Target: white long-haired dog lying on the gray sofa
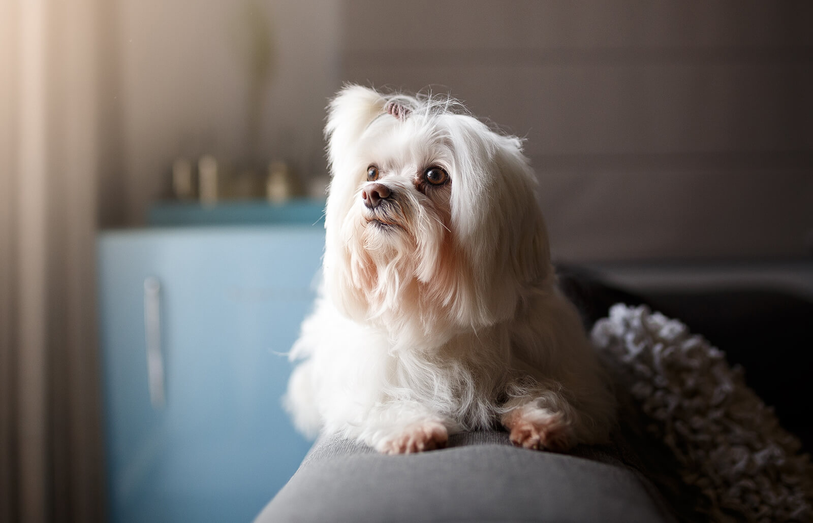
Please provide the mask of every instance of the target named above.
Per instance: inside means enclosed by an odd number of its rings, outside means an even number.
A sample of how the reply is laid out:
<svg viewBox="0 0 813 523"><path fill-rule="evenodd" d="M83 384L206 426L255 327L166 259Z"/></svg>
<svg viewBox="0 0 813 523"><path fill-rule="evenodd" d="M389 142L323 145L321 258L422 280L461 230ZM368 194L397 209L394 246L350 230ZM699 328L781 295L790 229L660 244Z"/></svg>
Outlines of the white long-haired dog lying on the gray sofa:
<svg viewBox="0 0 813 523"><path fill-rule="evenodd" d="M358 85L325 136L324 283L285 397L298 428L388 453L498 421L522 447L605 439L613 402L555 286L520 140L449 98Z"/></svg>

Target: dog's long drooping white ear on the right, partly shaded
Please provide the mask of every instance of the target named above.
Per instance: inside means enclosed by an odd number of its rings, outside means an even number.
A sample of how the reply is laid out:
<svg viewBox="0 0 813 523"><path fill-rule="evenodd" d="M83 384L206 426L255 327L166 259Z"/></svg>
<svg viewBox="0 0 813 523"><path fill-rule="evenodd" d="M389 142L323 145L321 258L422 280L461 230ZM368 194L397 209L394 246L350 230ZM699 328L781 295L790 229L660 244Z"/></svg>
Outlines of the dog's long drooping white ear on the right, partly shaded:
<svg viewBox="0 0 813 523"><path fill-rule="evenodd" d="M514 136L492 132L476 119L454 117L452 223L471 263L472 325L511 318L518 296L550 273L536 177ZM463 274L463 273L461 273ZM463 286L461 286L463 288Z"/></svg>

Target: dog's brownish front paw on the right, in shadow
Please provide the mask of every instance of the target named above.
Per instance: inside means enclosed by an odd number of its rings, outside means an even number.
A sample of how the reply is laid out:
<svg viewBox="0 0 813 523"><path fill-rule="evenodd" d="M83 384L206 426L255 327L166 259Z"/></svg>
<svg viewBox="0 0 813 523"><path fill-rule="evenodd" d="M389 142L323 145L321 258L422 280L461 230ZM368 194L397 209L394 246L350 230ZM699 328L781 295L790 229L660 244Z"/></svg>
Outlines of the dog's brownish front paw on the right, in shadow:
<svg viewBox="0 0 813 523"><path fill-rule="evenodd" d="M546 408L516 408L502 417L502 424L517 447L564 452L576 444L570 423Z"/></svg>

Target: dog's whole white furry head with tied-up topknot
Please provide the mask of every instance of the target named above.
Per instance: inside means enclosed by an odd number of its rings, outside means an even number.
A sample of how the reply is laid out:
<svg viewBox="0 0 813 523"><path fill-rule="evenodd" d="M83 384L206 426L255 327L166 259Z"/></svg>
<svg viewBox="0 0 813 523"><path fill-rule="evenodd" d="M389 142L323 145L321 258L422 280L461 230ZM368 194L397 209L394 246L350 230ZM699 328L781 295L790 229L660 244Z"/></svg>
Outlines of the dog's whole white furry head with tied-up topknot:
<svg viewBox="0 0 813 523"><path fill-rule="evenodd" d="M513 317L550 278L520 140L454 103L343 89L329 109L328 297L434 342Z"/></svg>

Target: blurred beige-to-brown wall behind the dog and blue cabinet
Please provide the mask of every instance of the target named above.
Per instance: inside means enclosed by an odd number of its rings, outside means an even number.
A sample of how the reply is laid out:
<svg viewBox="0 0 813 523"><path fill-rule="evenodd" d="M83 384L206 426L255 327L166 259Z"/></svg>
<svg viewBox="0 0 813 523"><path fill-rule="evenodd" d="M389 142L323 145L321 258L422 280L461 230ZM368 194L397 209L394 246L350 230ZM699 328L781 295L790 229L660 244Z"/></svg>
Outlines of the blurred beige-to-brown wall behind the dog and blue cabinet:
<svg viewBox="0 0 813 523"><path fill-rule="evenodd" d="M267 156L324 170L325 97L341 81L435 85L527 138L559 258L813 250L808 2L260 4L278 57L262 112ZM111 8L102 223L140 223L179 152L246 155L247 80L233 37L245 5ZM125 205L105 196L121 194Z"/></svg>

